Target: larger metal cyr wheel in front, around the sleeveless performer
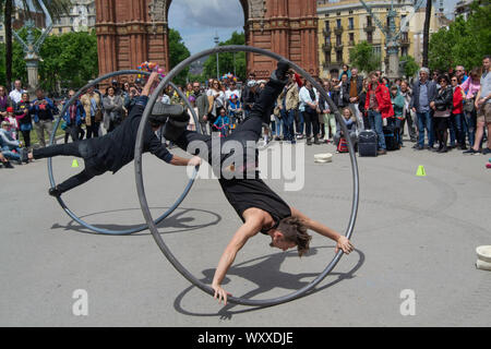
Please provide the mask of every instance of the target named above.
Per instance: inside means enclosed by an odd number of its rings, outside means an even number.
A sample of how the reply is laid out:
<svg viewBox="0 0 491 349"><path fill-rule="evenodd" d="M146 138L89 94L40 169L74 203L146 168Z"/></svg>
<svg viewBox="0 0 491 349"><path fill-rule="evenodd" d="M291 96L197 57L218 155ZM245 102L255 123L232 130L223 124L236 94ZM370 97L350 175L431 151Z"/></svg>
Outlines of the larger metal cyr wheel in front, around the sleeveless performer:
<svg viewBox="0 0 491 349"><path fill-rule="evenodd" d="M156 96L158 93L164 88L164 86L170 82L173 76L176 76L179 72L182 71L185 67L191 64L192 62L199 60L200 58L207 57L209 55L215 53L221 53L221 52L251 52L251 53L259 53L264 55L270 58L273 58L275 60L285 60L287 61L290 67L300 75L302 75L304 79L310 81L312 85L324 96L324 98L327 100L327 104L330 105L330 109L334 110L335 116L342 127L342 130L345 134L348 134L348 130L346 128L346 124L343 122L342 116L339 111L337 110L336 106L334 105L333 100L330 98L330 96L325 93L324 88L310 75L308 74L303 69L295 64L294 62L288 61L286 58L273 53L271 51L251 47L251 46L219 46L212 49L204 50L202 52L199 52L196 55L193 55L189 57L188 59L180 62L178 65L176 65L168 74L167 76L160 82L158 87L156 88L157 93L154 94L145 108L145 111L143 112L142 117L142 124L146 122L148 119L148 116L151 113L151 110L153 109L155 103L156 103ZM358 178L358 166L357 166L357 159L355 155L355 148L354 144L350 140L350 137L347 137L348 142L348 149L351 160L351 173L352 173L352 204L351 204L351 214L348 221L348 227L346 229L345 236L349 239L352 234L352 230L355 228L355 221L357 217L358 212L358 202L359 202L359 178ZM143 151L143 128L142 125L139 129L139 133L136 135L136 146L135 146L135 154L134 154L134 167L135 167L135 180L136 180L136 190L139 193L139 200L140 205L142 207L143 215L145 217L145 220L148 225L148 228L152 232L152 236L154 237L155 241L157 242L158 246L160 248L164 255L167 257L167 260L172 264L172 266L180 273L182 276L184 276L190 282L192 282L194 286L199 287L206 293L214 296L215 291L201 280L199 280L196 277L194 277L188 269L176 258L176 256L171 253L169 248L164 242L161 236L158 233L157 227L154 224L154 220L152 218L152 214L148 208L148 204L146 201L145 195L145 189L143 185L143 174L142 174L142 151ZM288 302L291 300L295 300L299 297L302 297L307 292L311 291L319 282L321 282L327 274L331 273L331 270L336 266L336 264L339 262L340 257L343 255L343 251L339 250L336 255L333 257L333 260L327 264L325 269L318 275L318 277L312 280L309 285L306 287L286 294L284 297L273 298L273 299L264 299L264 300L250 300L250 299L243 299L243 298L236 298L236 297L229 297L228 300L231 303L241 304L241 305L252 305L252 306L271 306L280 304L284 302Z"/></svg>

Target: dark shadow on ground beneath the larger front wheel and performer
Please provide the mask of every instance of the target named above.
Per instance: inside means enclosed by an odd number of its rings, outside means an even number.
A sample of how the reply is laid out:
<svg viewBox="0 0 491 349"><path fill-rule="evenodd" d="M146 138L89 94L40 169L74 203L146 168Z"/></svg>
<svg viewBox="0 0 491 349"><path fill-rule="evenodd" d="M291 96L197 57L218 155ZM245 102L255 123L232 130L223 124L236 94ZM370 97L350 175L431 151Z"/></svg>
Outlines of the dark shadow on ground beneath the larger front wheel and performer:
<svg viewBox="0 0 491 349"><path fill-rule="evenodd" d="M309 251L309 254L304 257L309 257L311 255L314 255L318 253L321 249L334 249L334 246L320 246L320 248L311 248ZM315 292L320 292L322 290L325 290L345 279L350 279L355 277L355 273L363 265L364 263L364 254L359 250L354 250L354 252L350 254L350 258L354 257L354 254L358 254L359 258L357 264L347 273L337 273L335 272L336 268L332 273L330 273L326 276L326 279L330 276L337 276L336 279L330 281L328 284L322 285L324 282L321 281L313 290L309 291L304 296L309 296ZM280 266L283 262L285 262L286 258L295 257L298 258L297 251L290 251L290 252L279 252L275 254L270 254L265 256L261 256L251 261L247 261L240 264L237 264L228 270L227 275L235 275L239 276L241 278L244 278L253 284L256 285L256 288L244 293L240 294L240 298L242 299L252 299L255 296L266 293L273 289L283 289L279 290L276 297L285 296L287 292L284 290L291 290L291 292L297 291L307 285L310 284L310 279L315 278L319 273L300 273L300 274L289 274L286 272L280 270ZM261 261L262 260L262 261ZM261 261L256 264L250 265L251 263L254 263L256 261ZM215 274L215 269L205 269L202 272L204 275L204 278L200 279L202 282L206 285L211 285L213 280L213 276ZM310 278L310 279L307 279ZM303 280L306 279L306 280ZM227 290L226 286L230 282L230 279L226 277L224 281L221 282L224 288ZM321 285L321 286L320 286ZM197 312L191 312L183 309L182 303L185 294L190 292L194 286L188 287L185 290L183 290L181 293L178 294L173 302L173 308L176 311L184 314L184 315L192 315L192 316L219 316L223 320L230 320L232 315L235 314L241 314L247 313L251 311L260 310L261 306L251 306L244 310L237 310L231 311L233 308L238 306L237 304L228 303L227 305L223 306L217 313L197 313ZM239 297L239 294L232 294L235 297ZM302 296L302 297L304 297ZM206 301L209 302L218 302L217 300L214 300L208 294L203 293L203 297ZM270 296L270 298L272 298ZM261 299L261 298L259 298ZM294 300L295 301L295 300ZM217 304L218 305L218 304Z"/></svg>

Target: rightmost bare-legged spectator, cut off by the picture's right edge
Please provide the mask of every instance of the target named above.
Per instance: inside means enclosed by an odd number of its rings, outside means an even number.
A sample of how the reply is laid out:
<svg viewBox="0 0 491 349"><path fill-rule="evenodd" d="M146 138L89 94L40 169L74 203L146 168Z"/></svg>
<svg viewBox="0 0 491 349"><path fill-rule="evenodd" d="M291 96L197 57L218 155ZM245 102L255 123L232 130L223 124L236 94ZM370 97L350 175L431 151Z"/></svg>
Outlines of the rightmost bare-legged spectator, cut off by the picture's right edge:
<svg viewBox="0 0 491 349"><path fill-rule="evenodd" d="M474 146L464 152L466 154L479 153L479 146L481 144L484 127L488 127L488 147L482 149L482 154L491 153L491 57L486 56L482 60L484 71L481 76L481 88L476 96L475 107L477 109L477 131Z"/></svg>

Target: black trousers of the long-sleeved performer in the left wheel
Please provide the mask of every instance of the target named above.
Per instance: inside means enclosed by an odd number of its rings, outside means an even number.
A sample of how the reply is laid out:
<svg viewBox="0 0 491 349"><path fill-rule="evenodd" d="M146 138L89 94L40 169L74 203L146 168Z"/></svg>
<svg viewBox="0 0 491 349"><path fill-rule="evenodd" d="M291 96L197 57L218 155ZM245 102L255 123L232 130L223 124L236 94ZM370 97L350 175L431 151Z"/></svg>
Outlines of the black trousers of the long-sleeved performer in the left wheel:
<svg viewBox="0 0 491 349"><path fill-rule="evenodd" d="M64 182L57 185L60 193L64 193L75 186L79 186L87 181L89 181L95 176L103 174L105 170L100 169L100 166L94 164L95 149L85 142L74 142L67 144L58 144L52 146L47 146L44 148L38 148L33 151L33 157L35 159L41 159L46 157L55 156L75 156L83 158L85 163L85 168L82 172L70 177Z"/></svg>

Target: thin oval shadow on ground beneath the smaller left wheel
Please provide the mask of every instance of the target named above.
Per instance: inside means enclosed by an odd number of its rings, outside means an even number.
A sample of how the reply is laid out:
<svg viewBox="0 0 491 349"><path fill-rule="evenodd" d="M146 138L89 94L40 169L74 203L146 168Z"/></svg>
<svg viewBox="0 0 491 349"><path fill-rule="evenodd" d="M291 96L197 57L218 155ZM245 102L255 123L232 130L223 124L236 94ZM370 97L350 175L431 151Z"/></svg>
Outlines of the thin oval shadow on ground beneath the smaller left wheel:
<svg viewBox="0 0 491 349"><path fill-rule="evenodd" d="M169 207L152 207L152 209L159 209L159 215L164 214ZM87 217L95 216L95 215L104 215L104 214L112 214L118 213L123 215L124 212L132 212L132 210L141 210L140 208L123 208L123 209L113 209L113 210L104 210L98 212L94 214L88 214L81 216L80 218L85 220ZM202 213L206 214L206 216L211 216L208 219L208 222L197 224L195 222L194 216L196 216L194 213ZM157 215L154 216L154 219L157 219ZM143 218L142 218L143 220ZM221 216L216 214L212 210L206 209L197 209L197 208L185 208L185 207L178 207L176 210L167 218L165 218L163 221L160 221L157 225L157 228L161 233L173 233L173 232L183 232L183 231L191 231L191 230L199 230L203 229L209 226L215 226L218 222L220 222ZM140 222L137 225L129 225L129 226L122 226L122 225L111 225L111 224L92 224L92 226L98 228L98 229L106 229L106 230L130 230L135 229L140 226L142 226L143 222ZM80 225L75 220L70 220L65 226L60 224L53 224L51 226L51 229L64 229L64 230L74 230L77 232L84 232L84 233L94 233L91 229ZM144 229L145 231L147 229ZM136 232L134 236L147 236L148 232Z"/></svg>

